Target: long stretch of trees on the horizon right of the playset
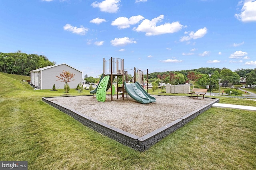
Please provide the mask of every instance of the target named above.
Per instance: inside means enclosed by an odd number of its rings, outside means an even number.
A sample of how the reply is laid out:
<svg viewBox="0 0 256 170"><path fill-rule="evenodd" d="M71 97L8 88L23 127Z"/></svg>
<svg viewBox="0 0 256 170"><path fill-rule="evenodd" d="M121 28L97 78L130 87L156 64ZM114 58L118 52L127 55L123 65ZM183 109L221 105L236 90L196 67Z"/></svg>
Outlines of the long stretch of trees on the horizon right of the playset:
<svg viewBox="0 0 256 170"><path fill-rule="evenodd" d="M145 78L145 77L144 77ZM246 85L256 84L256 68L236 69L234 72L228 68L198 68L193 70L153 72L148 76L148 82L176 84L196 84L199 86L212 85L218 88L219 82L224 87L240 84L246 80Z"/></svg>

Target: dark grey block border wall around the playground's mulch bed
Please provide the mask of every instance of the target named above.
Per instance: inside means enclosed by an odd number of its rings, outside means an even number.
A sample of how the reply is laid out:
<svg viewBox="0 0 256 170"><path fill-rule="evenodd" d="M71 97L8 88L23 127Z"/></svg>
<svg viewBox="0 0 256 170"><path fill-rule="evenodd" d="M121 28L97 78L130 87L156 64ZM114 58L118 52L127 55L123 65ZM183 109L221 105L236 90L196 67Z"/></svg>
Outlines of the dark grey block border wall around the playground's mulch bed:
<svg viewBox="0 0 256 170"><path fill-rule="evenodd" d="M61 97L71 97L71 96L61 96ZM75 97L75 96L74 96ZM133 135L131 133L128 133L126 131L123 131L121 129L118 129L116 127L112 127L110 125L107 125L105 123L102 123L100 121L94 120L82 113L79 113L78 111L74 109L69 109L68 107L62 106L60 104L57 104L55 102L52 102L48 100L48 98L52 97L43 97L42 101L46 102L50 106L55 107L56 109L59 109L60 111L63 111L64 113L70 115L83 125L86 125L87 127L90 127L94 129L95 131L102 133L103 135L106 135L128 147L131 147L138 151L145 151L148 148L150 148L152 145L156 144L158 141L161 141L164 137L168 136L172 132L176 131L180 127L184 126L186 123L192 121L192 119L196 118L198 115L203 113L204 111L210 109L213 104L218 103L219 99L215 99L210 104L207 104L203 107L200 107L199 109L196 109L192 111L191 113L188 113L187 115L180 117L180 119L177 119L173 121L172 123L169 123L165 125L164 127L160 127L159 129L156 129L155 131L148 133L147 135L144 135L142 137L138 137L136 135ZM207 97L205 97L207 98Z"/></svg>

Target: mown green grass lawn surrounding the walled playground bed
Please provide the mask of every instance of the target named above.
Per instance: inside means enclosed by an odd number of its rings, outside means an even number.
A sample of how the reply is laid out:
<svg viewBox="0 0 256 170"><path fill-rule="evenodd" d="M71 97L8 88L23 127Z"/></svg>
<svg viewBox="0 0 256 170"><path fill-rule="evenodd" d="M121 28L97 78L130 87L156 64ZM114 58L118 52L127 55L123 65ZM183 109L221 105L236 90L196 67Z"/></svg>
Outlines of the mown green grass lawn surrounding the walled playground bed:
<svg viewBox="0 0 256 170"><path fill-rule="evenodd" d="M36 170L256 169L255 111L211 108L139 152L42 102L64 90L33 90L21 80L0 73L0 160L26 160L28 169ZM89 91L72 89L69 94ZM256 106L252 100L218 98L220 103Z"/></svg>

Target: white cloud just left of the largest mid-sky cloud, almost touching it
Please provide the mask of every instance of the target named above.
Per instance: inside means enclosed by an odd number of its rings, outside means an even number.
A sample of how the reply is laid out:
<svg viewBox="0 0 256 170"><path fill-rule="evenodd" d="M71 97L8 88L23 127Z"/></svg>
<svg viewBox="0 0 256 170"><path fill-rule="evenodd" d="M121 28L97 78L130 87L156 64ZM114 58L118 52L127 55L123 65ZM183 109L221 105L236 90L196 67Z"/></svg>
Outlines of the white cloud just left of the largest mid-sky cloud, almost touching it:
<svg viewBox="0 0 256 170"><path fill-rule="evenodd" d="M134 25L143 19L143 16L132 16L130 18L119 17L116 18L116 20L112 21L111 25L116 25L119 29L124 29L129 28L130 25Z"/></svg>

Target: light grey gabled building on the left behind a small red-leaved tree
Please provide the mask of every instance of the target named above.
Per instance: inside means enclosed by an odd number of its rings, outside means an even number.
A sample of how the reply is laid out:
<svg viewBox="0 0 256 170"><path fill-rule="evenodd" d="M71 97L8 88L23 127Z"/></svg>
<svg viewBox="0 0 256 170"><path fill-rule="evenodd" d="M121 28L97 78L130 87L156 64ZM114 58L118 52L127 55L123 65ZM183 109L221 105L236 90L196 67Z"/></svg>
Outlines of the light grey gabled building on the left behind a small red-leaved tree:
<svg viewBox="0 0 256 170"><path fill-rule="evenodd" d="M70 88L76 88L77 84L82 83L81 71L68 64L58 64L30 71L30 84L33 84L33 87L38 87L38 89L52 89L54 84L56 89L63 89L65 83L61 82L61 80L58 80L56 77L60 76L60 73L62 73L63 70L75 74L75 80L68 82Z"/></svg>

